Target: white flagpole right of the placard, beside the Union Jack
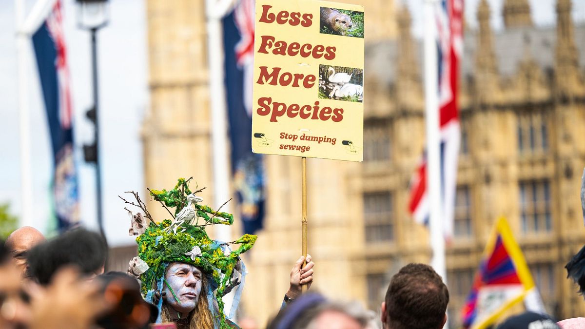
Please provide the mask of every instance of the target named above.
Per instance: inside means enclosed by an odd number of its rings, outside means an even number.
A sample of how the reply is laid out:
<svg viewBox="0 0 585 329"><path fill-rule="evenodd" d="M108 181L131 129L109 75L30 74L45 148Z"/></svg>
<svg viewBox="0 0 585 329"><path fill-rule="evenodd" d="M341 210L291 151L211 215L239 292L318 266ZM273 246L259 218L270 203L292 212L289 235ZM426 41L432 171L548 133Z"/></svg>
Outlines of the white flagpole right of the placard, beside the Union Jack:
<svg viewBox="0 0 585 329"><path fill-rule="evenodd" d="M431 265L446 282L445 237L443 237L441 205L441 173L439 159L439 100L438 100L438 63L436 46L436 25L434 6L436 0L424 1L425 17L425 112L426 112L426 150L427 177L429 189L431 248L433 256Z"/></svg>

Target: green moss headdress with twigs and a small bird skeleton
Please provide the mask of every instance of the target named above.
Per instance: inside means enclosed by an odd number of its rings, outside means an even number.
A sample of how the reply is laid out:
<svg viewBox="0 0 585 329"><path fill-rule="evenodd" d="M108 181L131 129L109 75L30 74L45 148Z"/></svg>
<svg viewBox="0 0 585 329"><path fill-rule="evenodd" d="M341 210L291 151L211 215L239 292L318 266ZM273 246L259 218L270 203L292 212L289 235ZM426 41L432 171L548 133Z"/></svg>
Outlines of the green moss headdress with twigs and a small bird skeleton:
<svg viewBox="0 0 585 329"><path fill-rule="evenodd" d="M166 284L164 273L167 266L173 262L197 266L208 277L209 309L216 317L219 327L225 328L228 325L222 311L221 297L233 287L238 286L236 292L238 296L232 304L232 310L235 310L245 275L245 267L239 256L252 248L256 242L256 235L245 234L232 242L215 241L209 238L205 232L206 227L215 224L231 225L233 215L198 204L202 199L195 196L195 193L201 190L192 193L188 186L190 180L178 179L177 185L170 191L149 190L150 196L163 204L173 220L163 220L156 224L146 210L146 205L135 192L132 194L138 204L124 200L126 203L140 207L144 211L144 217L150 220L150 223L146 225L142 214L133 215L129 211L132 221L129 233L139 236L136 238L138 257L130 261L128 273L142 280L141 289L144 299L159 306L160 310L162 305L160 293L163 285ZM169 208L174 208L174 214ZM232 251L229 245L234 244L240 246ZM219 308L217 314L214 301Z"/></svg>

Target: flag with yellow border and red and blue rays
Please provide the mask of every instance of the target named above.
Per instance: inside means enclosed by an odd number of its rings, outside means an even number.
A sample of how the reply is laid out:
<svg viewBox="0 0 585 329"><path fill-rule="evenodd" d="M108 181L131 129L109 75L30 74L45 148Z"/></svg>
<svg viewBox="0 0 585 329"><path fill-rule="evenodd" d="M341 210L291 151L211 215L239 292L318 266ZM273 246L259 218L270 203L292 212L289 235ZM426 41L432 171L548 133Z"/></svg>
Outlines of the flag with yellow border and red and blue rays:
<svg viewBox="0 0 585 329"><path fill-rule="evenodd" d="M545 313L524 255L508 222L500 218L488 240L472 291L463 307L463 326L487 328L522 301L526 310Z"/></svg>

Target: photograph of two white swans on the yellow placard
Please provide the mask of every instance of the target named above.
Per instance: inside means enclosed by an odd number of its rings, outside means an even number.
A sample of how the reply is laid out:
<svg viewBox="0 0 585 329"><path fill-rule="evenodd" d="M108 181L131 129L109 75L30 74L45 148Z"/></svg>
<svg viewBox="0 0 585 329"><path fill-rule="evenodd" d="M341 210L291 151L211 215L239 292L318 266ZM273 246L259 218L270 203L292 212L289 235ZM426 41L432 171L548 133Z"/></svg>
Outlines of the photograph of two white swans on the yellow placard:
<svg viewBox="0 0 585 329"><path fill-rule="evenodd" d="M363 102L361 68L319 65L318 97L325 100Z"/></svg>

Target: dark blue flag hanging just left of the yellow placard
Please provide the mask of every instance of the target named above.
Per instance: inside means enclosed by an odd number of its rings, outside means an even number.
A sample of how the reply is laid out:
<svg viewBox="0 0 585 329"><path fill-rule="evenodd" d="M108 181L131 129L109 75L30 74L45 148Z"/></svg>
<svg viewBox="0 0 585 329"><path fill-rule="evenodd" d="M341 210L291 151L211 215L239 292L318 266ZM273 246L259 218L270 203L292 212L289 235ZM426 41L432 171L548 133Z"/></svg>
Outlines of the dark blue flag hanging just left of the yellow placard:
<svg viewBox="0 0 585 329"><path fill-rule="evenodd" d="M254 0L239 0L222 19L233 184L246 234L261 229L264 220L263 160L250 144L255 11Z"/></svg>

